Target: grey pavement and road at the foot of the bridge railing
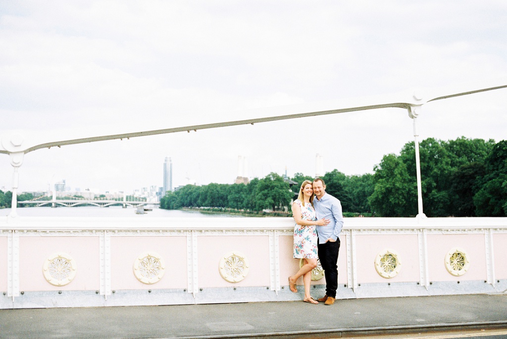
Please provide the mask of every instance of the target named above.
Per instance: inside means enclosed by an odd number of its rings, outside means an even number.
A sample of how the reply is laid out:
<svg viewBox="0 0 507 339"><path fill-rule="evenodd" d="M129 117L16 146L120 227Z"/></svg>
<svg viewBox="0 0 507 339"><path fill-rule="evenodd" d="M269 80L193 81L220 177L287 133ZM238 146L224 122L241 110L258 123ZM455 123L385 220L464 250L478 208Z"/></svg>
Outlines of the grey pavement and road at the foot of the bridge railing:
<svg viewBox="0 0 507 339"><path fill-rule="evenodd" d="M507 294L0 310L0 338L351 337L507 328Z"/></svg>

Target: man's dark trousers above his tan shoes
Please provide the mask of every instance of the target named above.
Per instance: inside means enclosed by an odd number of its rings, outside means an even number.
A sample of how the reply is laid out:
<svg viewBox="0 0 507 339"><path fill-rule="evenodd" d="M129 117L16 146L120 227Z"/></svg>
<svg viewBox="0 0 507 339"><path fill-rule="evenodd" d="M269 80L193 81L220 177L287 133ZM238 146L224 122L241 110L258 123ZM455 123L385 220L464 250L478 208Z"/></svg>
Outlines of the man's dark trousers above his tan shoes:
<svg viewBox="0 0 507 339"><path fill-rule="evenodd" d="M338 251L340 250L340 239L335 242L328 241L323 244L318 243L318 259L320 266L324 270L325 277L325 295L336 299L336 289L338 288Z"/></svg>

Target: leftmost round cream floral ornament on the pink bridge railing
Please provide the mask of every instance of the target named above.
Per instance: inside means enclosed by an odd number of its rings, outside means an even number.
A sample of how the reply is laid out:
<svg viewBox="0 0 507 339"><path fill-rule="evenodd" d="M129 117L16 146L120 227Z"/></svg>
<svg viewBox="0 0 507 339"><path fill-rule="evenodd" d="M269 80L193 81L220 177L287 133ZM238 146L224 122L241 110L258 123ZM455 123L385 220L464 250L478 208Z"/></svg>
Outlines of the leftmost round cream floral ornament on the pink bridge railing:
<svg viewBox="0 0 507 339"><path fill-rule="evenodd" d="M54 286L64 286L76 276L76 261L67 253L54 253L44 261L44 278Z"/></svg>

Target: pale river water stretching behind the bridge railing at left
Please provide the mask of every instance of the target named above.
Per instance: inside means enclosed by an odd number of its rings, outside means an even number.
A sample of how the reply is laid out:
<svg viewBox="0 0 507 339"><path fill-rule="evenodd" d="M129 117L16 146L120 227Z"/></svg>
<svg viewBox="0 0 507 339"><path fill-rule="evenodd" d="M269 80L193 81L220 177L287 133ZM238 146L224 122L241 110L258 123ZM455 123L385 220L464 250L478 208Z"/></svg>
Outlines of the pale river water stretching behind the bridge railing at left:
<svg viewBox="0 0 507 339"><path fill-rule="evenodd" d="M237 217L228 214L204 214L199 211L168 210L154 207L144 214L136 214L136 207L122 208L122 206L97 207L18 207L16 211L20 217L128 217L128 218L213 218ZM11 213L11 208L1 208L0 217Z"/></svg>

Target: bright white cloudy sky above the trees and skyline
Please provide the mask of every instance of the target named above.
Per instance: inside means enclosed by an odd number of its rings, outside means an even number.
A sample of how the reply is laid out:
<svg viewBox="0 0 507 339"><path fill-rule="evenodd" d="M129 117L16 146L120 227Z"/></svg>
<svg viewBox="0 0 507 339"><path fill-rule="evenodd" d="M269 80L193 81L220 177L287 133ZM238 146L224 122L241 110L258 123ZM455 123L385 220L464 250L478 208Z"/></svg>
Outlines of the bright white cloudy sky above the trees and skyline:
<svg viewBox="0 0 507 339"><path fill-rule="evenodd" d="M507 76L507 2L10 1L0 3L0 137L97 125L125 132L247 118L252 108ZM507 138L507 90L423 106L421 139ZM337 107L338 108L338 107ZM233 112L233 113L231 113ZM52 132L56 131L56 132ZM318 142L315 142L315 137ZM399 108L62 146L28 153L19 191L233 183L372 173L413 140ZM0 189L13 169L0 154Z"/></svg>

